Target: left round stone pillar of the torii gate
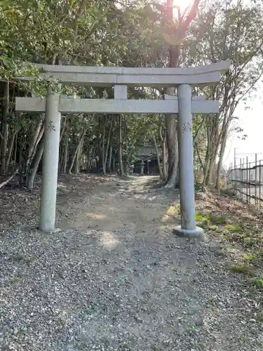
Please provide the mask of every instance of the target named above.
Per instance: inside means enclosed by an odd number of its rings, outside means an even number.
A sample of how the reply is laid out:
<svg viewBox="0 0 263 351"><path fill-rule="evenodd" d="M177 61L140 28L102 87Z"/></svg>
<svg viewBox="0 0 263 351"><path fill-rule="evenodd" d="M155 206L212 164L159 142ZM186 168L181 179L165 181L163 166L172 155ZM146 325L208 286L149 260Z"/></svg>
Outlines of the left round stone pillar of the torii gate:
<svg viewBox="0 0 263 351"><path fill-rule="evenodd" d="M45 134L42 166L42 186L39 230L55 230L55 208L58 186L58 159L60 152L60 95L48 90L45 112Z"/></svg>

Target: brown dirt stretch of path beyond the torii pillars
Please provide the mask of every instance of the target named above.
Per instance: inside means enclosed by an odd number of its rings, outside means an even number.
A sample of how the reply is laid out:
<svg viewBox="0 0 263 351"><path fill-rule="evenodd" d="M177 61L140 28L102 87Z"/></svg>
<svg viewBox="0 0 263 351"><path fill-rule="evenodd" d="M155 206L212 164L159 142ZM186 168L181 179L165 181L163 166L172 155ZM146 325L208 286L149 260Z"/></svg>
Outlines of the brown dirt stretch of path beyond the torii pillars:
<svg viewBox="0 0 263 351"><path fill-rule="evenodd" d="M95 194L74 204L74 208L63 204L67 218L59 226L79 230L121 230L127 227L130 230L162 230L167 223L175 223L172 216L166 216L175 197L168 192L163 197L162 192L153 191L154 183L154 177L130 177L129 180L101 185Z"/></svg>

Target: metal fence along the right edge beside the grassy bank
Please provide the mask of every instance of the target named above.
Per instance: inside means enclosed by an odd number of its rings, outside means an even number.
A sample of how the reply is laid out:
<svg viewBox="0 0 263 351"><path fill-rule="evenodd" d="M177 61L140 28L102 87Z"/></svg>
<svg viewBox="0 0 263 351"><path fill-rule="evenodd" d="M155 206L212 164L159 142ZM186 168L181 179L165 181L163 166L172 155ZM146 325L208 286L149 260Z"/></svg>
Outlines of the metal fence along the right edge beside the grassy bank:
<svg viewBox="0 0 263 351"><path fill-rule="evenodd" d="M263 210L263 159L255 161L249 157L238 159L231 164L226 175L225 187L247 204ZM260 155L261 156L261 155ZM261 156L262 157L262 156Z"/></svg>

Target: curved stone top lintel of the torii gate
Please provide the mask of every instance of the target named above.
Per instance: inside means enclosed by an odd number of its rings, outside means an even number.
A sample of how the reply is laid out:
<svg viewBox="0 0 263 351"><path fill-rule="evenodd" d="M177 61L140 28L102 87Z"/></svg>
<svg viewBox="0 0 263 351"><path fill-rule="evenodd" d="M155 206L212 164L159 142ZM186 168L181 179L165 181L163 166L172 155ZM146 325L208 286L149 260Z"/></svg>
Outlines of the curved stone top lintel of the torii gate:
<svg viewBox="0 0 263 351"><path fill-rule="evenodd" d="M43 69L41 79L50 77L64 84L83 84L85 86L177 86L190 84L192 86L210 86L220 81L220 74L227 72L230 61L217 62L213 65L181 68L140 68L140 67L93 67L93 66L63 66L35 65ZM34 80L34 77L18 77L23 80Z"/></svg>

